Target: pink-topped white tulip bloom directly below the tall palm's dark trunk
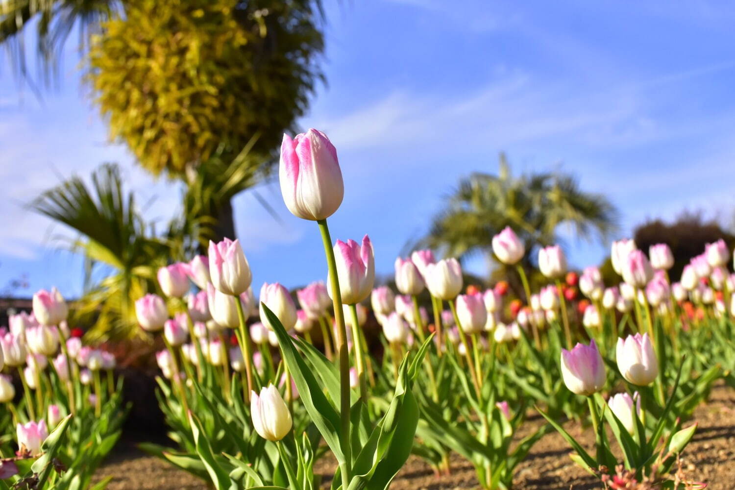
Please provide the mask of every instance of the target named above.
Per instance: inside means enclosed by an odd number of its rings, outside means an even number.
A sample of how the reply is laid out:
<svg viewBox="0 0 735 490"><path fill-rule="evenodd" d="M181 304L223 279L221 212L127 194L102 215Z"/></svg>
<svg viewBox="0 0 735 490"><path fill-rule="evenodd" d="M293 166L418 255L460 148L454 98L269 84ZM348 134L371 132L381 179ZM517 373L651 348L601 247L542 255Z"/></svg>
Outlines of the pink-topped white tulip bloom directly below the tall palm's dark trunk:
<svg viewBox="0 0 735 490"><path fill-rule="evenodd" d="M209 276L215 289L226 295L239 296L248 290L253 275L239 240L209 242Z"/></svg>

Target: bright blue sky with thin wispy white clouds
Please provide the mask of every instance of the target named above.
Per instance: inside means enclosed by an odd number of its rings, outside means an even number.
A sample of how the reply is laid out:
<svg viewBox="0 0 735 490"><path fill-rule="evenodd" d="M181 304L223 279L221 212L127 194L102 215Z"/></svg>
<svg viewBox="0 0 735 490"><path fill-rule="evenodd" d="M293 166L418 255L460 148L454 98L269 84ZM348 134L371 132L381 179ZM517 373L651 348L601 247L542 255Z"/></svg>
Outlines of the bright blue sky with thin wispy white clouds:
<svg viewBox="0 0 735 490"><path fill-rule="evenodd" d="M368 233L379 273L429 226L442 198L475 170L560 169L620 209L621 234L648 217L735 209L735 7L729 2L326 0L324 69L309 115L329 134L345 178L334 239ZM71 173L119 162L126 181L165 220L179 188L135 166L79 80L76 37L62 82L39 101L0 56L0 289L27 274L30 294L79 294L78 257L58 251L68 231L24 209ZM287 212L277 184L234 201L254 285L290 287L325 275L314 223ZM729 224L729 221L728 221ZM570 243L570 262L607 245ZM470 262L483 272L485 264Z"/></svg>

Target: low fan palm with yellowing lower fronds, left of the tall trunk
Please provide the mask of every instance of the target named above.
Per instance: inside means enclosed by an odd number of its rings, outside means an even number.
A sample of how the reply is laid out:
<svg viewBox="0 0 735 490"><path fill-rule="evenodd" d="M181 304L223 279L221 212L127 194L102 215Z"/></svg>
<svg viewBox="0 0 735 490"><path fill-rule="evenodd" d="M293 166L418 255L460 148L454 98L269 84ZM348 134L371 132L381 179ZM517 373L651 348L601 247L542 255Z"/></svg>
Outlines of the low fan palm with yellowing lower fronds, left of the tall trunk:
<svg viewBox="0 0 735 490"><path fill-rule="evenodd" d="M118 167L99 167L90 186L73 176L43 192L30 207L78 234L65 239L71 251L85 257L84 293L74 304L72 321L94 323L87 334L93 339L141 334L135 300L156 291L157 267L177 259L172 253L181 247L154 237L135 196L124 192Z"/></svg>

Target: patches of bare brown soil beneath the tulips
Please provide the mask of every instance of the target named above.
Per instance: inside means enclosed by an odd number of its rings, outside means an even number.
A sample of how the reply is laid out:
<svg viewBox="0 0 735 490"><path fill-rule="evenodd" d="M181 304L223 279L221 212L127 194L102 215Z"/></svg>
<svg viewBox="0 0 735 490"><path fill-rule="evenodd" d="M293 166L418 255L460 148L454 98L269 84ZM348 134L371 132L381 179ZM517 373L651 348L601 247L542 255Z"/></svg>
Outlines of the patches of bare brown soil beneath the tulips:
<svg viewBox="0 0 735 490"><path fill-rule="evenodd" d="M694 420L699 428L681 458L681 468L687 480L708 483L709 490L735 488L735 392L717 386L711 400L695 411ZM541 419L528 422L526 430L542 423ZM685 426L692 422L686 422ZM567 424L567 430L586 449L594 442L590 430ZM517 468L515 489L527 490L584 490L599 489L601 485L587 475L568 457L567 443L557 433L544 436ZM322 460L316 472L331 479L334 464ZM98 471L98 478L112 475L109 490L204 490L207 486L186 472L174 469L164 461L140 453L132 444L123 444L115 455ZM471 464L457 455L452 458L451 475L436 476L428 465L418 458L409 459L395 478L392 490L459 490L476 489L477 483Z"/></svg>

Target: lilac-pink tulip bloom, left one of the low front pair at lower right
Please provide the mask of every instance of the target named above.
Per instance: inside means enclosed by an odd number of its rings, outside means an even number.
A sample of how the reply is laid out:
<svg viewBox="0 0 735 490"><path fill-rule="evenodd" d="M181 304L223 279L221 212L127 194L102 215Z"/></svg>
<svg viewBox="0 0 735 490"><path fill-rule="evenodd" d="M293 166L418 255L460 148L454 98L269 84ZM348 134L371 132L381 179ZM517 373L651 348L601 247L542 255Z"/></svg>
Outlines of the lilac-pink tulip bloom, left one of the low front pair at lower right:
<svg viewBox="0 0 735 490"><path fill-rule="evenodd" d="M594 340L562 349L562 378L570 392L585 396L598 392L605 384L605 364Z"/></svg>

